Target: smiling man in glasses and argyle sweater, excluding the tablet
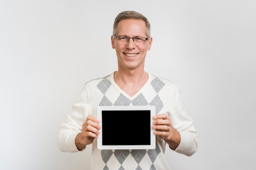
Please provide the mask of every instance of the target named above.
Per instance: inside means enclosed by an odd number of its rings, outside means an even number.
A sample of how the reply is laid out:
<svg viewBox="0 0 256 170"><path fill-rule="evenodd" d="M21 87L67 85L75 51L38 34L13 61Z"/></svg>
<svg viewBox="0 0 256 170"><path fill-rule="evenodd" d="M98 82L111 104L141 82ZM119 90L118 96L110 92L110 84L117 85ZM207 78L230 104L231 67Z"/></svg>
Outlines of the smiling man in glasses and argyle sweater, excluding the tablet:
<svg viewBox="0 0 256 170"><path fill-rule="evenodd" d="M198 139L193 121L186 116L177 86L144 71L146 53L152 45L150 23L135 11L119 13L114 22L111 43L116 50L118 70L85 84L73 104L72 113L60 126L58 147L63 152L77 152L92 144L91 170L168 170L164 157L166 143L171 150L191 156L197 151ZM157 137L156 148L98 150L101 126L96 118L96 109L101 105L156 106L152 126ZM136 125L131 122L131 126ZM141 132L138 129L134 133Z"/></svg>

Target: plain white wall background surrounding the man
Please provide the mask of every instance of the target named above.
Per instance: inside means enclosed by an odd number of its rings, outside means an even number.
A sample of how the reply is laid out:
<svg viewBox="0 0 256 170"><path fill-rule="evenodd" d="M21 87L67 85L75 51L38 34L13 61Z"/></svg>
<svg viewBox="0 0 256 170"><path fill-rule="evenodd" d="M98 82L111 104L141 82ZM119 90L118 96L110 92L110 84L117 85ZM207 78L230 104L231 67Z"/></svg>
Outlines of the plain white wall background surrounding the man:
<svg viewBox="0 0 256 170"><path fill-rule="evenodd" d="M151 23L146 71L180 87L198 152L173 170L255 170L256 1L0 0L0 169L89 170L91 147L62 153L61 122L83 85L117 70L116 15Z"/></svg>

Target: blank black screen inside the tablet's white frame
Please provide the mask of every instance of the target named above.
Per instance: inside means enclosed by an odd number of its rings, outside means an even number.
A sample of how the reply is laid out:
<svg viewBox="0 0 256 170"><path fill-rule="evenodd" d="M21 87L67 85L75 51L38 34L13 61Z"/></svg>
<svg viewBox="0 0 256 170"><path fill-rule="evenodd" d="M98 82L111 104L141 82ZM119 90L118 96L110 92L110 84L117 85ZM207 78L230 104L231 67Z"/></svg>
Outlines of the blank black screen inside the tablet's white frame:
<svg viewBox="0 0 256 170"><path fill-rule="evenodd" d="M102 145L150 145L150 110L102 111Z"/></svg>

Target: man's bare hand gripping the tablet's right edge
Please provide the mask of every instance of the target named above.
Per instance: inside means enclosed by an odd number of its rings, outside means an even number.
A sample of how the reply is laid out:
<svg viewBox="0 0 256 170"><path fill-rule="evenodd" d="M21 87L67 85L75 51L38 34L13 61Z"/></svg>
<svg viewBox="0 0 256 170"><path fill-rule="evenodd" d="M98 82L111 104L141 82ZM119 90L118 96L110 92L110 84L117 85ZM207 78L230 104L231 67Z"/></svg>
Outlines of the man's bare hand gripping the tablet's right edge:
<svg viewBox="0 0 256 170"><path fill-rule="evenodd" d="M180 133L173 129L171 118L166 114L157 114L153 117L154 134L164 139L168 145L175 150L180 144Z"/></svg>

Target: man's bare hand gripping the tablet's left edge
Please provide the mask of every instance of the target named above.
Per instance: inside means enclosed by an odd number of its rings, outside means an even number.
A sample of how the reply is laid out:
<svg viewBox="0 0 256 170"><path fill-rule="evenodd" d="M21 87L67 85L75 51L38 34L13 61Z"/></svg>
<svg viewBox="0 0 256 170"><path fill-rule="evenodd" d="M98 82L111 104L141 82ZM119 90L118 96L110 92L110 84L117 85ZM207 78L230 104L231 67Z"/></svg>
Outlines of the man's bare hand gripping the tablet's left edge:
<svg viewBox="0 0 256 170"><path fill-rule="evenodd" d="M99 129L101 129L99 120L89 115L83 123L82 132L80 132L75 139L78 150L83 149L86 145L91 144L95 138L98 138Z"/></svg>

